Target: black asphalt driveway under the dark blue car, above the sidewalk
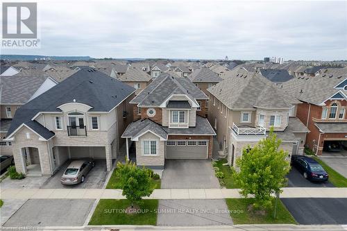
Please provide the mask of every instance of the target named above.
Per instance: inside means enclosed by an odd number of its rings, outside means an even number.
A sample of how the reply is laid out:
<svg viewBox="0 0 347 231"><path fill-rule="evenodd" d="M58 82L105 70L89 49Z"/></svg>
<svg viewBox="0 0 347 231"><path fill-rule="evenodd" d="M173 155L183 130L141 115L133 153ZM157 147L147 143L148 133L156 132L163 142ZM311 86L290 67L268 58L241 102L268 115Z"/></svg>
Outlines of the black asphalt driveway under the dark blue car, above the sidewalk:
<svg viewBox="0 0 347 231"><path fill-rule="evenodd" d="M291 167L287 178L287 187L335 187L329 182L329 180L326 182L312 182L310 180L306 180L303 175L293 166Z"/></svg>

